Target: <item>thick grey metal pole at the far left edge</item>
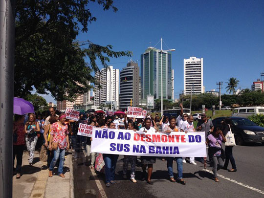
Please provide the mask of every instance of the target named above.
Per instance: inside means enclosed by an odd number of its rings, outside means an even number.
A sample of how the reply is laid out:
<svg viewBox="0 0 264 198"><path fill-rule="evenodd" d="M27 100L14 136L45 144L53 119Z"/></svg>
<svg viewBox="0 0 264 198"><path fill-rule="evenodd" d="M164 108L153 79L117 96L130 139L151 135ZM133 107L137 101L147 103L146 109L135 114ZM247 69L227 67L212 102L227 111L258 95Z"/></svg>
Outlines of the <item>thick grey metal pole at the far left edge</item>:
<svg viewBox="0 0 264 198"><path fill-rule="evenodd" d="M0 0L0 198L12 198L15 0Z"/></svg>

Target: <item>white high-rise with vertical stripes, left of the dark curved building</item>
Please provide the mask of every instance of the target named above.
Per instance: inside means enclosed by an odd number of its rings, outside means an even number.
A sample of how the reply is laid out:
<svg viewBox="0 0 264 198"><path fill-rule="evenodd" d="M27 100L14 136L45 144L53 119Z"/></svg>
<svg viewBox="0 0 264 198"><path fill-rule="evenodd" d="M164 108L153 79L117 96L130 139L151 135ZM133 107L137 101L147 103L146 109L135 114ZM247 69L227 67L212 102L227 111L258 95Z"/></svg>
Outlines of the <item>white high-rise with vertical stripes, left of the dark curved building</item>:
<svg viewBox="0 0 264 198"><path fill-rule="evenodd" d="M99 106L102 102L119 102L119 69L113 66L102 68L95 73L95 80L101 86L94 87L94 105ZM118 105L117 105L118 106Z"/></svg>

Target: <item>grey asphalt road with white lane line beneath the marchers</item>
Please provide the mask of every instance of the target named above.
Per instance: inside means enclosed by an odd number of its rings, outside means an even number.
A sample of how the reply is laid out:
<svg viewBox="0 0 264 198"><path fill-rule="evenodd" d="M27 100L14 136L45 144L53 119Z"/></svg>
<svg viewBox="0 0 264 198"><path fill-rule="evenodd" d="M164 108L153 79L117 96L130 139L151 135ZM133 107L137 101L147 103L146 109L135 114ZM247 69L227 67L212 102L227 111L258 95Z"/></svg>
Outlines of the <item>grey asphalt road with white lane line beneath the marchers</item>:
<svg viewBox="0 0 264 198"><path fill-rule="evenodd" d="M123 155L119 156L116 170L116 184L105 187L104 175L96 176L86 164L84 152L73 154L74 186L76 198L92 198L106 195L108 198L121 197L240 197L264 198L264 145L250 144L236 146L233 154L238 172L230 173L220 170L220 183L213 180L212 174L204 173L203 164L183 164L183 177L186 185L172 183L168 180L166 161L156 160L152 179L154 185L146 181L136 184L122 178ZM208 171L212 171L210 164ZM231 165L229 164L229 168ZM136 179L141 177L141 168L136 168ZM176 162L174 163L176 173ZM224 177L224 178L222 178ZM176 177L175 177L176 178ZM97 184L96 184L97 181ZM99 183L99 185L98 185ZM99 186L99 187L98 187ZM101 193L100 193L101 192Z"/></svg>

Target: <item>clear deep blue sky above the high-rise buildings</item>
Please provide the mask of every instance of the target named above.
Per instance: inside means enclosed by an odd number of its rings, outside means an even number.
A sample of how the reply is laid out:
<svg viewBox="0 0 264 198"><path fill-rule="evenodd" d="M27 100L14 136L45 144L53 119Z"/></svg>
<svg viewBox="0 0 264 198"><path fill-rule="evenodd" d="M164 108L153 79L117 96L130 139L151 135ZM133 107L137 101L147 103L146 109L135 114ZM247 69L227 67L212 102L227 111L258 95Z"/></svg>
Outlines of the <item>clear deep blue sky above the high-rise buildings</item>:
<svg viewBox="0 0 264 198"><path fill-rule="evenodd" d="M183 90L183 59L203 58L205 91L217 89L237 78L238 88L250 88L264 72L264 0L113 0L118 8L104 11L88 6L96 22L77 40L111 44L114 51L132 51L132 57L110 59L110 66L122 69L132 59L140 66L140 54L149 46L172 52L175 98ZM87 59L87 62L89 60ZM99 68L102 65L98 63ZM47 102L54 102L50 96Z"/></svg>

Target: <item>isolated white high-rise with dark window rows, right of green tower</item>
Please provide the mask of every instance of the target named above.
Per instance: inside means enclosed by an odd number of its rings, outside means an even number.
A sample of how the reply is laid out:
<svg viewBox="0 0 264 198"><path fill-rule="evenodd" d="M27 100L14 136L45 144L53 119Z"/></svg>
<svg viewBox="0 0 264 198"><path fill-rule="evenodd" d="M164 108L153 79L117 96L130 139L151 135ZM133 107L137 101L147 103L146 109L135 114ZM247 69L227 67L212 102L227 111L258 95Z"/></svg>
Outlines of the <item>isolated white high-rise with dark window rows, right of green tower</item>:
<svg viewBox="0 0 264 198"><path fill-rule="evenodd" d="M185 94L204 93L203 58L190 57L183 60L183 90Z"/></svg>

